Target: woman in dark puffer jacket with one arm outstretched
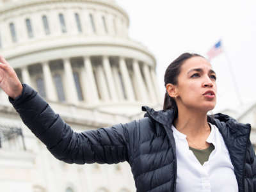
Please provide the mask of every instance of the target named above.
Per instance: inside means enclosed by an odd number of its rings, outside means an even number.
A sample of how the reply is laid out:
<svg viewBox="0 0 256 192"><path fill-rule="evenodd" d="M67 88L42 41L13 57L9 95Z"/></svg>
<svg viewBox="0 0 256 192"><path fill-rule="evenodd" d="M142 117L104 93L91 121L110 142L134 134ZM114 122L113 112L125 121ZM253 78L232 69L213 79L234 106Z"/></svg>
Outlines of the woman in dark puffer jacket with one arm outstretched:
<svg viewBox="0 0 256 192"><path fill-rule="evenodd" d="M145 118L77 133L0 58L0 86L23 122L49 151L67 163L128 161L137 191L256 191L250 125L220 113L216 74L198 54L184 53L164 75L163 111Z"/></svg>

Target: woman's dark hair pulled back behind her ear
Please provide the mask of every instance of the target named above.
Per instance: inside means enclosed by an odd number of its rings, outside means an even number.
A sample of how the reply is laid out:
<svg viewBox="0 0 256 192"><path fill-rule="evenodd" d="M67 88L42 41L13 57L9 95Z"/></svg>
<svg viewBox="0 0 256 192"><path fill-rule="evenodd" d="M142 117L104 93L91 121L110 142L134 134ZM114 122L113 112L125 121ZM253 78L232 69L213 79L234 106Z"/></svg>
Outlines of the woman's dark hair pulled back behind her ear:
<svg viewBox="0 0 256 192"><path fill-rule="evenodd" d="M189 53L185 52L181 54L176 60L172 61L172 63L166 68L165 74L164 74L164 86L168 83L177 84L178 82L178 76L180 74L180 67L182 64L188 60L189 58L199 56L204 58L203 56L200 56L199 54L195 53ZM163 109L166 111L167 109L173 108L175 110L175 113L177 114L178 108L175 100L173 97L170 97L168 95L167 91L164 95L164 106Z"/></svg>

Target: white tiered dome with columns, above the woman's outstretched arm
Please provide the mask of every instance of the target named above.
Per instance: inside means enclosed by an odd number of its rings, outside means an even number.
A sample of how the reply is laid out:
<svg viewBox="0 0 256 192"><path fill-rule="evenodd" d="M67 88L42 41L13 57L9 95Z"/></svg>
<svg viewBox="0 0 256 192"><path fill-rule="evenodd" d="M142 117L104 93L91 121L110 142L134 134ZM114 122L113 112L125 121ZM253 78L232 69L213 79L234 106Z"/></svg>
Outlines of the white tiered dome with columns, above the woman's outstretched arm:
<svg viewBox="0 0 256 192"><path fill-rule="evenodd" d="M1 3L1 54L49 102L130 115L161 103L156 60L115 1Z"/></svg>

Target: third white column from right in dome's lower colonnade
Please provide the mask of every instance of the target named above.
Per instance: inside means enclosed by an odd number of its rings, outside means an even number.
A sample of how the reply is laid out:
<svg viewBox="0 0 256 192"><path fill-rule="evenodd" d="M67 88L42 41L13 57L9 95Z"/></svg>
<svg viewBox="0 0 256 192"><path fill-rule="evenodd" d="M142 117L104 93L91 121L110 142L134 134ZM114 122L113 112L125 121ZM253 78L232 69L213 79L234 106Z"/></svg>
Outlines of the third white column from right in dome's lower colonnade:
<svg viewBox="0 0 256 192"><path fill-rule="evenodd" d="M140 66L137 60L133 60L132 68L134 71L136 83L138 85L138 99L143 102L148 102L147 88L145 86L145 83L143 82L143 77L141 76Z"/></svg>

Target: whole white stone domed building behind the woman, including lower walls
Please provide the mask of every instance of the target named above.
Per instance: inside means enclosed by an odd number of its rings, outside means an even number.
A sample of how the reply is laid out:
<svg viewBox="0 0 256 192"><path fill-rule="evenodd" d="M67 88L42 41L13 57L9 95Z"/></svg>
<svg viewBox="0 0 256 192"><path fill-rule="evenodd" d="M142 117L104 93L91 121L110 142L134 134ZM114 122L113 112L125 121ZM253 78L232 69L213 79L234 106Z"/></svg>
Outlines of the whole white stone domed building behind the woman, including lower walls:
<svg viewBox="0 0 256 192"><path fill-rule="evenodd" d="M161 108L156 60L128 36L114 0L0 0L0 52L75 131ZM0 94L0 190L135 191L129 164L65 164L35 138Z"/></svg>

